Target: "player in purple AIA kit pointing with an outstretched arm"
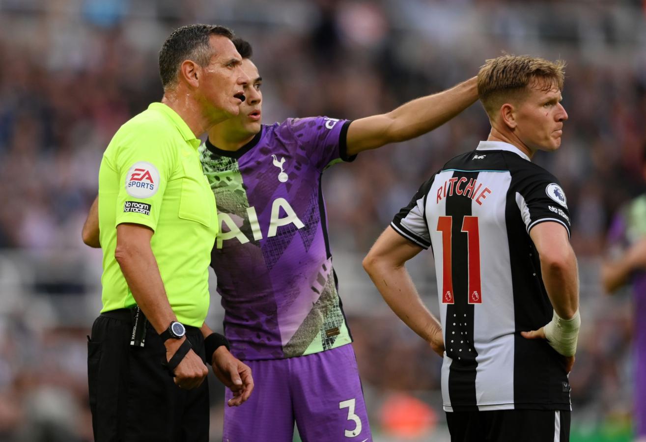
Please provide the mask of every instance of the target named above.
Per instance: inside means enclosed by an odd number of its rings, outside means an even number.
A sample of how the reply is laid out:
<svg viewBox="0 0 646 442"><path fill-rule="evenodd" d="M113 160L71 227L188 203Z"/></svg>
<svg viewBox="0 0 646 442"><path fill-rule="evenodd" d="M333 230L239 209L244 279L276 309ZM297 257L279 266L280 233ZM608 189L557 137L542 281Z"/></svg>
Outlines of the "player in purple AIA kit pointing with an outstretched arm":
<svg viewBox="0 0 646 442"><path fill-rule="evenodd" d="M255 377L244 406L225 410L224 440L289 442L296 422L304 441L370 441L332 267L322 172L450 120L477 99L475 78L360 120L262 125L262 79L251 46L234 43L251 79L246 99L200 148L221 223L211 266L225 335Z"/></svg>

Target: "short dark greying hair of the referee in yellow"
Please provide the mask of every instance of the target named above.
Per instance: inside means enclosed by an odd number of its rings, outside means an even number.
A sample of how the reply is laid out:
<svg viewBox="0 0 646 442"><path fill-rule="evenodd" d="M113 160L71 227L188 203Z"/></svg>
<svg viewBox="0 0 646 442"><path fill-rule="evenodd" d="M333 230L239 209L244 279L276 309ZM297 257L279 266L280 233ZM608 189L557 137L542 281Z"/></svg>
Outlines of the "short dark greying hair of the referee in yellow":
<svg viewBox="0 0 646 442"><path fill-rule="evenodd" d="M174 85L182 62L193 60L206 66L213 56L209 37L223 36L233 39L233 31L218 25L186 25L177 28L163 42L160 50L160 78L164 89Z"/></svg>

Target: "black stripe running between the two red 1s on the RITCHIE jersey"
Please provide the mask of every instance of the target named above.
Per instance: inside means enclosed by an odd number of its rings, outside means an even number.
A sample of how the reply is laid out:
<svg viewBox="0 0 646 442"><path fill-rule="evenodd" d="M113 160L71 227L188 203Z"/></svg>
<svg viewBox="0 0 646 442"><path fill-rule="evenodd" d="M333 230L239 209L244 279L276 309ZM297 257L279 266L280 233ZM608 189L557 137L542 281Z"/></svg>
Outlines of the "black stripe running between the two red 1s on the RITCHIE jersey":
<svg viewBox="0 0 646 442"><path fill-rule="evenodd" d="M455 171L454 178L477 179L478 172ZM462 231L464 216L472 214L471 198L455 193L446 197L446 216L452 217L451 269L454 304L446 304L444 347L453 359L449 368L448 393L455 411L477 410L474 348L474 304L468 303L468 235ZM430 226L433 227L433 226ZM441 257L435 257L441 259ZM469 351L471 350L471 351Z"/></svg>

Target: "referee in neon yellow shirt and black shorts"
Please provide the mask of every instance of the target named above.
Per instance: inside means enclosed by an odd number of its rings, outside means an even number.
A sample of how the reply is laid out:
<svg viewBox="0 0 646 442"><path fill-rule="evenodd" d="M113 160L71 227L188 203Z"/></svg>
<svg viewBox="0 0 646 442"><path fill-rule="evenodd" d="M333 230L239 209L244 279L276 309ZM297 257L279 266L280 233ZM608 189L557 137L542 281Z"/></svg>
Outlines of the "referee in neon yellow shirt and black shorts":
<svg viewBox="0 0 646 442"><path fill-rule="evenodd" d="M231 379L242 375L238 402L253 388L224 337L203 339L218 222L197 137L237 114L244 98L232 37L222 26L172 32L159 57L161 103L121 126L103 154L103 309L88 352L98 442L207 441L206 357Z"/></svg>

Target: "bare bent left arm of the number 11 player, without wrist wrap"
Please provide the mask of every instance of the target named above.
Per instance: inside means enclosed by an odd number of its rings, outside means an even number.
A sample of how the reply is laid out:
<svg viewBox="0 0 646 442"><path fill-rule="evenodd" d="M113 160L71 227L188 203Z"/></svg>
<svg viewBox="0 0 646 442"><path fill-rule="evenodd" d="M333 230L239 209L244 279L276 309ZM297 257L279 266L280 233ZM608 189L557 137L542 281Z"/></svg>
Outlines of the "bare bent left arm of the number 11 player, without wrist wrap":
<svg viewBox="0 0 646 442"><path fill-rule="evenodd" d="M422 251L388 226L363 260L384 300L413 332L428 342L435 353L443 356L442 326L419 298L415 284L406 271L406 261Z"/></svg>

